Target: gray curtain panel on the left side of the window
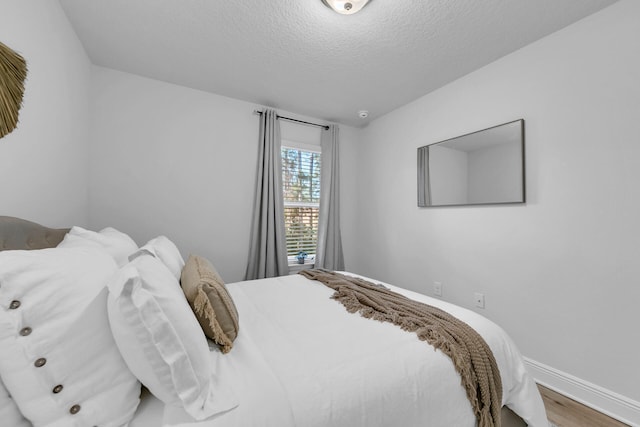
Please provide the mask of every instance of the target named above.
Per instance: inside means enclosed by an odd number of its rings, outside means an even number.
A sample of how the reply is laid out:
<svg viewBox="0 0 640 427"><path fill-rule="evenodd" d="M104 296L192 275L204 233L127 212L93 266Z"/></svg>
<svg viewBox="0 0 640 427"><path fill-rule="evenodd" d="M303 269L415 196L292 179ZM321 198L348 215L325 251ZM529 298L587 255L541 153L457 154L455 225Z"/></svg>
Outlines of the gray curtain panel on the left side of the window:
<svg viewBox="0 0 640 427"><path fill-rule="evenodd" d="M265 109L260 117L256 194L245 280L289 274L280 144L277 114Z"/></svg>

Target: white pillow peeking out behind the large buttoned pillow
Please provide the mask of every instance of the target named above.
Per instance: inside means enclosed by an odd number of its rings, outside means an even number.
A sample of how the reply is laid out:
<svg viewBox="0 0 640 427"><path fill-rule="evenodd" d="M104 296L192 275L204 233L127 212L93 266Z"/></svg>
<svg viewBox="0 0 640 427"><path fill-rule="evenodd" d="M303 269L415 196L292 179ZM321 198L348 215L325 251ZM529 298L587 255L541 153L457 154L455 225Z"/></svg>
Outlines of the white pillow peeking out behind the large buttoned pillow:
<svg viewBox="0 0 640 427"><path fill-rule="evenodd" d="M138 245L127 234L112 227L99 232L72 227L58 245L59 248L78 248L100 246L116 260L119 267L129 262L129 255L138 250Z"/></svg>

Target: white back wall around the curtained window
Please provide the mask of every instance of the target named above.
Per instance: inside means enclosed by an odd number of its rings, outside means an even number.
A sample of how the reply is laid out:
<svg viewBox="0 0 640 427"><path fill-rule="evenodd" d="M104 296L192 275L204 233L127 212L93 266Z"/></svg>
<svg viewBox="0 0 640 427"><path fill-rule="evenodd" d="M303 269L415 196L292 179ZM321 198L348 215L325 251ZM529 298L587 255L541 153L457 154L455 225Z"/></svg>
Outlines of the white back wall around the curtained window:
<svg viewBox="0 0 640 427"><path fill-rule="evenodd" d="M139 244L166 234L183 256L205 256L226 281L242 280L259 106L101 67L92 76L91 227L114 226ZM282 132L314 139L313 128L291 123ZM342 134L348 147L355 133Z"/></svg>

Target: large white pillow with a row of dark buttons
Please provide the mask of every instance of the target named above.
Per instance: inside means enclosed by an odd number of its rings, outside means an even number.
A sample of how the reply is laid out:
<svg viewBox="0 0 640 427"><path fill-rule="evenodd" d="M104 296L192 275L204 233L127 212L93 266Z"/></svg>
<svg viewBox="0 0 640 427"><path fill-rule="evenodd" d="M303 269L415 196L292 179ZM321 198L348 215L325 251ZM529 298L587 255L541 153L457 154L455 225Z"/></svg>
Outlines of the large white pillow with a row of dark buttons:
<svg viewBox="0 0 640 427"><path fill-rule="evenodd" d="M0 375L35 426L120 426L140 383L115 345L102 249L0 252Z"/></svg>

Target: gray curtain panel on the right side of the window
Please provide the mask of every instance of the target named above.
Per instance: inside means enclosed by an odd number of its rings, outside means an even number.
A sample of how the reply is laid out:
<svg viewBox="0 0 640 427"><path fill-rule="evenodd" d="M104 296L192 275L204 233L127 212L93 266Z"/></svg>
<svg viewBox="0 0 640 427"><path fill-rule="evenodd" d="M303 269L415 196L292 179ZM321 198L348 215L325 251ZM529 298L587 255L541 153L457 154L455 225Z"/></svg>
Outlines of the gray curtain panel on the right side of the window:
<svg viewBox="0 0 640 427"><path fill-rule="evenodd" d="M340 235L340 147L338 127L322 130L322 182L320 186L320 219L316 268L344 270L342 237Z"/></svg>

